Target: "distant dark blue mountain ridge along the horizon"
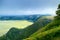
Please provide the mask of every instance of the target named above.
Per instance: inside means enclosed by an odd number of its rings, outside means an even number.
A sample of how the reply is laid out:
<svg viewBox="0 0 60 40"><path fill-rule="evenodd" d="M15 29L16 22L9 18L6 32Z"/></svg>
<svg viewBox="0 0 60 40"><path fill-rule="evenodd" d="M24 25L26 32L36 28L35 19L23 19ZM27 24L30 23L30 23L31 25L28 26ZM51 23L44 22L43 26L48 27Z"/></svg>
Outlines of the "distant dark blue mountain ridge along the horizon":
<svg viewBox="0 0 60 40"><path fill-rule="evenodd" d="M28 20L35 22L39 17L49 16L49 15L20 15L20 16L0 16L0 20Z"/></svg>

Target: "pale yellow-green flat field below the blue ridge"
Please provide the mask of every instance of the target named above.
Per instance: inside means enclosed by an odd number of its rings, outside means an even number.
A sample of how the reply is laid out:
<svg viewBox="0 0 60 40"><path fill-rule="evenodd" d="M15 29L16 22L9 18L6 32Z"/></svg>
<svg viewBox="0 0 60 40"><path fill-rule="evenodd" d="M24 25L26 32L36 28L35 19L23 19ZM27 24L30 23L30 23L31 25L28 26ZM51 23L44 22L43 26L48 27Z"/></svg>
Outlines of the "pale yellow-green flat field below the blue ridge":
<svg viewBox="0 0 60 40"><path fill-rule="evenodd" d="M23 29L29 25L33 24L32 22L26 20L8 20L0 21L0 36L5 34L10 28L15 27Z"/></svg>

